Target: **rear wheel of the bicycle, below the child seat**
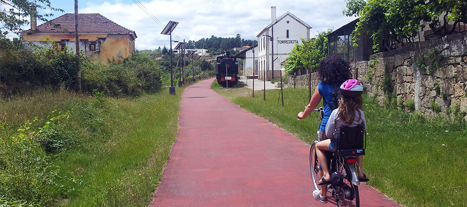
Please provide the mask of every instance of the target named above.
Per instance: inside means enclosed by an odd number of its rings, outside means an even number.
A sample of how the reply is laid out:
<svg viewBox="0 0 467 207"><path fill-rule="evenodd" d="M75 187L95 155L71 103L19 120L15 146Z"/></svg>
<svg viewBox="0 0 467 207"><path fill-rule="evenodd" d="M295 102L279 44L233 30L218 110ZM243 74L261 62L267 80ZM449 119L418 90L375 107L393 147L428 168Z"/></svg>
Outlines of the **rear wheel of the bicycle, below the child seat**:
<svg viewBox="0 0 467 207"><path fill-rule="evenodd" d="M360 195L358 193L358 186L354 185L351 180L352 177L350 170L347 165L341 167L341 173L344 176L344 184L342 187L339 187L339 202L337 202L338 207L360 207Z"/></svg>

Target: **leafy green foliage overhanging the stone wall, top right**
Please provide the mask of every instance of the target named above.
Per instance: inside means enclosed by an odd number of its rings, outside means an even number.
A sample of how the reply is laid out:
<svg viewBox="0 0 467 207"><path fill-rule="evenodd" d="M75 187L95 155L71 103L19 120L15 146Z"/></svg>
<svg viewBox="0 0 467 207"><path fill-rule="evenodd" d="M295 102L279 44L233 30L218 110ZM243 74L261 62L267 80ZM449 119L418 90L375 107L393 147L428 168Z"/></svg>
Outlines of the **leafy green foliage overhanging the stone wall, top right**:
<svg viewBox="0 0 467 207"><path fill-rule="evenodd" d="M360 16L353 32L373 39L374 51L387 51L394 43L412 42L425 24L434 34L452 34L460 22L467 23L466 0L346 0L347 16ZM452 23L450 25L450 22Z"/></svg>

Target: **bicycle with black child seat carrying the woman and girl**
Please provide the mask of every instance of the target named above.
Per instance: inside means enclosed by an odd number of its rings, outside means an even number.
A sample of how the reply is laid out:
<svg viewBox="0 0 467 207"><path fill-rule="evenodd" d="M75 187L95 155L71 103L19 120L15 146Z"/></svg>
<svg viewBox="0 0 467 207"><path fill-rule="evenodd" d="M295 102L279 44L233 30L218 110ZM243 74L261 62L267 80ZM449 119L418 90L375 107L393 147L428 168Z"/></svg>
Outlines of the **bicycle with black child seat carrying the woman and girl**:
<svg viewBox="0 0 467 207"><path fill-rule="evenodd" d="M324 116L322 107L313 109L321 113L321 120ZM318 137L318 132L316 136ZM310 147L310 171L311 179L315 190L320 190L317 182L321 179L319 173L319 163L316 155L316 143L314 140ZM364 144L364 145L363 145ZM332 198L336 201L338 207L360 207L360 196L358 186L360 182L355 171L358 155L364 155L366 148L366 132L362 126L342 127L337 142L337 151L328 152L329 172L332 174L339 171L342 175L340 182L332 182L328 185ZM329 159L330 158L330 159ZM358 165L357 165L358 167Z"/></svg>

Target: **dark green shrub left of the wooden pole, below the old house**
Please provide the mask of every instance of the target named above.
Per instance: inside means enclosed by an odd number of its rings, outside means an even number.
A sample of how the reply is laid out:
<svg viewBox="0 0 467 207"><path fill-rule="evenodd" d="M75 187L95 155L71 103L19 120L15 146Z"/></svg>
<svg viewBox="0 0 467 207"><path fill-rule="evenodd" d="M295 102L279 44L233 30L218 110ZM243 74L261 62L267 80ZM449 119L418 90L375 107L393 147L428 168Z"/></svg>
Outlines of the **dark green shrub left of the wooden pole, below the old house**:
<svg viewBox="0 0 467 207"><path fill-rule="evenodd" d="M58 51L55 42L33 50L8 40L0 44L1 93L14 94L42 85L75 87L78 58L71 52Z"/></svg>

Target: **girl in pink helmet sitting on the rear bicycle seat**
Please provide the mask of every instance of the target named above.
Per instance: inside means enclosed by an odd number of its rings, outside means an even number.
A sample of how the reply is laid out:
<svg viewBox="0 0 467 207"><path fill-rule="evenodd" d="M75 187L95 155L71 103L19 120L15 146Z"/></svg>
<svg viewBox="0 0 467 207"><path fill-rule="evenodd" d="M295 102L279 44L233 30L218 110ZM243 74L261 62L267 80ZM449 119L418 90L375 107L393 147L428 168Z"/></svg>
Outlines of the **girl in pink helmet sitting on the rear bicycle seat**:
<svg viewBox="0 0 467 207"><path fill-rule="evenodd" d="M362 110L362 93L363 85L356 79L348 79L340 86L342 99L339 101L338 108L333 110L329 116L329 121L326 125L325 135L330 139L322 140L316 143L316 155L321 168L323 176L317 183L318 185L327 185L331 183L331 176L327 166L327 159L324 151L334 152L337 150L337 136L341 126L354 127L362 125L366 131L365 116ZM360 182L366 182L369 179L362 172L363 156L357 156L357 169L358 179ZM313 192L313 197L322 202L327 202L326 189L321 188L321 192Z"/></svg>

